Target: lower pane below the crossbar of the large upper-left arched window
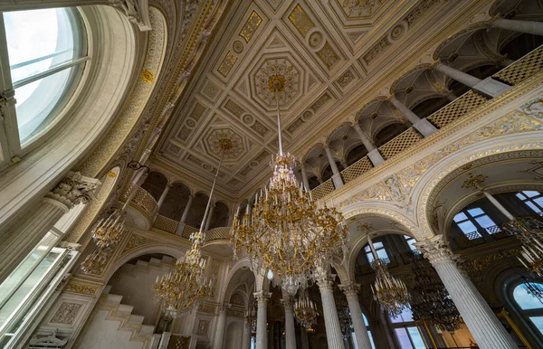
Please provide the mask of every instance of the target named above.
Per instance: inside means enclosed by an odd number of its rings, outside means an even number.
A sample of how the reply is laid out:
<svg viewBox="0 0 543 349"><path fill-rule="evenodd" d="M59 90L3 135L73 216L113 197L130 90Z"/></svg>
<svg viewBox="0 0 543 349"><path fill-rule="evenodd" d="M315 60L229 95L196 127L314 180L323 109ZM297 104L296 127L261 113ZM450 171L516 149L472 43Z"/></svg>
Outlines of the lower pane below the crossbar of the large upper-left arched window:
<svg viewBox="0 0 543 349"><path fill-rule="evenodd" d="M15 108L21 142L45 126L43 123L45 118L49 116L52 108L62 98L74 69L59 71L42 80L33 81L15 89L15 99L17 100Z"/></svg>

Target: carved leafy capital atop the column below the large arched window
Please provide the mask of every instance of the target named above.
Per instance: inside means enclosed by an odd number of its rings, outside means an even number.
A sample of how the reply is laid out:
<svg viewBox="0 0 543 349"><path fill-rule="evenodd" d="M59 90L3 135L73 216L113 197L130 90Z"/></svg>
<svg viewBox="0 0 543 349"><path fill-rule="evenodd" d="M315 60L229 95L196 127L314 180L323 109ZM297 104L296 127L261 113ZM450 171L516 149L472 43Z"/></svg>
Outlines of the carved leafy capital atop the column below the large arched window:
<svg viewBox="0 0 543 349"><path fill-rule="evenodd" d="M65 204L69 209L79 203L88 203L94 198L94 190L100 181L79 172L69 172L45 197Z"/></svg>

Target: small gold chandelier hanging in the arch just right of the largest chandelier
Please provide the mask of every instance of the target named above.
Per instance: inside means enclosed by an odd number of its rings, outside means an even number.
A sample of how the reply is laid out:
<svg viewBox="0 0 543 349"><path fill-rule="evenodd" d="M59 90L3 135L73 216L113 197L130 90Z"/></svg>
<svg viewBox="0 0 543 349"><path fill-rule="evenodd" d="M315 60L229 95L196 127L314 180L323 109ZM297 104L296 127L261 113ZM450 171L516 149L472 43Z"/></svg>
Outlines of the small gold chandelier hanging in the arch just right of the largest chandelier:
<svg viewBox="0 0 543 349"><path fill-rule="evenodd" d="M377 258L376 249L369 236L367 242L374 257L371 268L376 270L376 282L371 286L374 299L390 316L399 316L405 308L409 307L411 296L405 287L404 281L390 275L388 269L386 269L386 261Z"/></svg>

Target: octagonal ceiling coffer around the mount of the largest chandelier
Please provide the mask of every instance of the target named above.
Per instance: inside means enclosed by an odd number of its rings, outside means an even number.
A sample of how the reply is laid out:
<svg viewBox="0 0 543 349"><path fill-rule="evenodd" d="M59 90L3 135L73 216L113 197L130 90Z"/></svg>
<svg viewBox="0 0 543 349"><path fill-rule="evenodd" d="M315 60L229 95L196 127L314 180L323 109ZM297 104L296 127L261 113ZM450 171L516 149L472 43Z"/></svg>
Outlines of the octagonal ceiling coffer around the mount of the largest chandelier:
<svg viewBox="0 0 543 349"><path fill-rule="evenodd" d="M254 92L268 108L275 107L275 92L270 90L270 78L282 76L284 89L279 92L281 106L291 103L292 99L300 92L300 71L287 57L269 58L262 61L262 64L254 74Z"/></svg>

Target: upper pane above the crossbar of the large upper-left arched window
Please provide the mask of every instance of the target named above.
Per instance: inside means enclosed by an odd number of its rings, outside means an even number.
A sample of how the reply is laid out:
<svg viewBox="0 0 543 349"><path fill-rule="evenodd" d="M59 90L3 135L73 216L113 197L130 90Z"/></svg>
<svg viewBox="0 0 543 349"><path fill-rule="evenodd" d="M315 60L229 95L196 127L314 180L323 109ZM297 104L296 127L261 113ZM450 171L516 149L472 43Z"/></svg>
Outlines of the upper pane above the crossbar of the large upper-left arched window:
<svg viewBox="0 0 543 349"><path fill-rule="evenodd" d="M74 34L67 11L8 12L4 21L13 82L74 58Z"/></svg>

